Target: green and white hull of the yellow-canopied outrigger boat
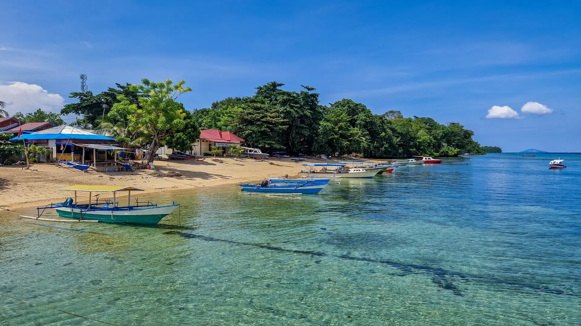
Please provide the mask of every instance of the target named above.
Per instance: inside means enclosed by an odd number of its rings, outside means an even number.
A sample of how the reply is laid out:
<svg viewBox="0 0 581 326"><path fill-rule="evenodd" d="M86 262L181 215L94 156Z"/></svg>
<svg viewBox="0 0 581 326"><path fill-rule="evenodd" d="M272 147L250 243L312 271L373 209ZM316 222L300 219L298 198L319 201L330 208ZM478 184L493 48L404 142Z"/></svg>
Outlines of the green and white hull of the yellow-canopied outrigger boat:
<svg viewBox="0 0 581 326"><path fill-rule="evenodd" d="M179 205L167 205L138 209L83 209L59 207L56 212L63 218L98 220L108 223L157 224L164 216L171 214Z"/></svg>

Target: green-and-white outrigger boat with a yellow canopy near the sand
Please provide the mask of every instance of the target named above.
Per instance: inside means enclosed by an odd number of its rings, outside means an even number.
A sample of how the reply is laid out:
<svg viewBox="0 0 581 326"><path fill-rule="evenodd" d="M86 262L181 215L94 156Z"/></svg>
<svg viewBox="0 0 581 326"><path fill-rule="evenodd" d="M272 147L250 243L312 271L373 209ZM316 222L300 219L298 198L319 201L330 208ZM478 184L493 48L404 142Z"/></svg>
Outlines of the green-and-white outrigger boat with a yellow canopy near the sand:
<svg viewBox="0 0 581 326"><path fill-rule="evenodd" d="M98 220L99 222L109 223L131 223L131 224L157 224L166 215L171 214L180 204L158 206L151 202L141 204L137 200L135 205L131 205L131 191L144 191L135 187L122 186L84 186L76 185L64 187L59 190L74 191L73 198L67 198L59 204L50 204L46 207L38 207L38 217L42 215L45 209L54 208L63 218L73 218L80 220ZM89 193L88 204L78 204L77 191ZM116 201L116 194L119 191L127 191L127 206L120 206ZM113 201L104 200L91 202L92 193L113 193Z"/></svg>

